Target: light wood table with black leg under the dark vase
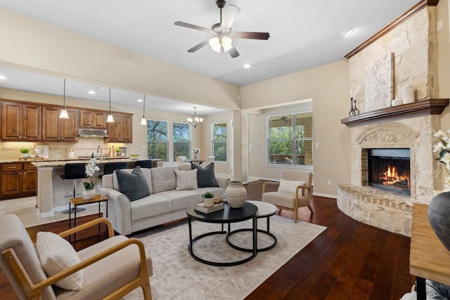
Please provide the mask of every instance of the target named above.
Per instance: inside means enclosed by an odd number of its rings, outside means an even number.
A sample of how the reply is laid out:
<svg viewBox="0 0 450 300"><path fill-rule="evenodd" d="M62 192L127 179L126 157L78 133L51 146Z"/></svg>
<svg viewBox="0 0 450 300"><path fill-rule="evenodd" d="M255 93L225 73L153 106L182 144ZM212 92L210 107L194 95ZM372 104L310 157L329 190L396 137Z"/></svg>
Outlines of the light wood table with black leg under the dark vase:
<svg viewBox="0 0 450 300"><path fill-rule="evenodd" d="M428 221L428 205L415 203L409 252L409 273L417 277L417 299L425 300L425 278L450 285L450 252Z"/></svg>

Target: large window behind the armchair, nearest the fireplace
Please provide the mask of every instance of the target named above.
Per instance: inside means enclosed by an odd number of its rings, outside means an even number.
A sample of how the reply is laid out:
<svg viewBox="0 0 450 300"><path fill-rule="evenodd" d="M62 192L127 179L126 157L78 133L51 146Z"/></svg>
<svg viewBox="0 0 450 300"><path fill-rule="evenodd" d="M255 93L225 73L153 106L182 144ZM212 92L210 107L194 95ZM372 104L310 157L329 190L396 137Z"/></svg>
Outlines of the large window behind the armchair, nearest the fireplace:
<svg viewBox="0 0 450 300"><path fill-rule="evenodd" d="M312 166L312 112L267 117L269 164Z"/></svg>

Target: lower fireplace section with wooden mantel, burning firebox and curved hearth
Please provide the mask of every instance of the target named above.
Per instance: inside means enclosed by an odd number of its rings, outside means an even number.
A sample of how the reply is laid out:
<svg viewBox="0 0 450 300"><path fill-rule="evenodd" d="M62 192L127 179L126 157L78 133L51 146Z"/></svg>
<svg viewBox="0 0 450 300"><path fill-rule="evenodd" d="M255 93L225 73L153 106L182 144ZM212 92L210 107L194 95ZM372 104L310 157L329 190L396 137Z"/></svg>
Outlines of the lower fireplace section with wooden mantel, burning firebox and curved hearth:
<svg viewBox="0 0 450 300"><path fill-rule="evenodd" d="M429 203L434 190L442 190L432 134L439 130L439 114L448 103L448 99L422 100L342 119L351 127L352 140L352 181L338 186L338 207L345 214L411 236L413 204ZM380 160L382 170L374 171L370 160ZM397 175L392 174L393 164ZM391 174L382 178L388 165ZM372 176L378 183L371 183ZM383 182L393 182L394 177L397 183Z"/></svg>

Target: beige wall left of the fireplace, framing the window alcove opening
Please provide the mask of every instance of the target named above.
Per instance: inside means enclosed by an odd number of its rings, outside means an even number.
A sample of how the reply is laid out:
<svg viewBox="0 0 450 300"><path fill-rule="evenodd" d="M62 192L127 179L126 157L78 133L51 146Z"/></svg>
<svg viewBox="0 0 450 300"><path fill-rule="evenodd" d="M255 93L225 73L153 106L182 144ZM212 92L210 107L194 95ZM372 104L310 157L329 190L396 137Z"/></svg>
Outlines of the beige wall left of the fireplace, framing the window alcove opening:
<svg viewBox="0 0 450 300"><path fill-rule="evenodd" d="M340 124L340 119L347 117L350 110L347 60L242 86L240 96L243 110L288 105L311 98L314 127L314 193L335 197L337 184L350 181L350 133L347 126ZM261 139L262 137L265 139L266 136L265 125L252 127L252 120L255 118L257 117L249 115L249 141L250 136L254 134ZM319 143L319 148L316 148L316 143ZM255 152L251 150L251 153ZM265 161L264 158L263 162ZM270 174L269 178L279 178L281 168L258 166L260 167L264 171L254 169L254 164L249 164L249 176ZM328 180L332 182L331 186L327 185Z"/></svg>

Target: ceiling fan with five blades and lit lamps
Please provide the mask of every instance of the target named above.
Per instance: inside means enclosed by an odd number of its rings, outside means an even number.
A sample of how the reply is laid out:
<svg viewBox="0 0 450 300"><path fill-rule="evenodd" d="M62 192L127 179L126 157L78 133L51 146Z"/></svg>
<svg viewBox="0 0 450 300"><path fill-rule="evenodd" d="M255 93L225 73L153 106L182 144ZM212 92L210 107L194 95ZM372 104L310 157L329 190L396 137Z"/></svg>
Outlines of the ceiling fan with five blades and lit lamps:
<svg viewBox="0 0 450 300"><path fill-rule="evenodd" d="M233 38L236 39L269 39L269 32L233 32L231 30L231 26L233 22L236 20L240 12L240 8L238 6L229 5L226 6L224 15L222 18L222 8L225 6L224 0L216 1L217 7L220 9L220 22L212 25L211 29L206 27L201 27L193 24L189 24L186 22L177 21L175 25L181 27L188 27L193 30L200 30L203 32L207 32L213 35L210 39L205 39L200 44L197 44L188 50L189 53L193 53L198 49L210 44L212 50L216 52L228 52L232 58L237 58L239 56L239 52L233 46Z"/></svg>

